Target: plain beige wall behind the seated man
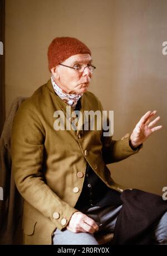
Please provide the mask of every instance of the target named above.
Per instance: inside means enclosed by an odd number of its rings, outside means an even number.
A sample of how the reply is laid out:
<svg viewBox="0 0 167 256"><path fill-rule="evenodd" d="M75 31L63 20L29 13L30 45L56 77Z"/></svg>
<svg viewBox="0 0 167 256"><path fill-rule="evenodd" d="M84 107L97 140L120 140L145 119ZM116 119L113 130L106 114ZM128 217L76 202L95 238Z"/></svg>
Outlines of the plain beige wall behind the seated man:
<svg viewBox="0 0 167 256"><path fill-rule="evenodd" d="M47 47L56 36L72 36L92 50L90 91L114 110L114 138L131 132L146 111L158 110L163 130L143 151L109 165L127 187L162 194L167 186L166 0L7 0L6 111L17 96L31 96L50 78Z"/></svg>

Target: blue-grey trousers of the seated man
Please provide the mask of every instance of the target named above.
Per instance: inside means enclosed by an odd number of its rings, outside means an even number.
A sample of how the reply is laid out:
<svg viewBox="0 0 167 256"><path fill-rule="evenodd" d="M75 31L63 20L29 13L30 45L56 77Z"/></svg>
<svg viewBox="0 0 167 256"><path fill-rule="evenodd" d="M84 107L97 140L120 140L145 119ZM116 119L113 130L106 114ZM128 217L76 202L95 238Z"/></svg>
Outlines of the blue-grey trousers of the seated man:
<svg viewBox="0 0 167 256"><path fill-rule="evenodd" d="M99 231L111 231L114 233L117 216L122 206L95 206L84 212L99 226ZM153 227L153 239L155 244L167 245L167 212L161 220ZM60 231L56 229L53 235L53 244L57 245L97 245L94 234L73 233L67 229Z"/></svg>

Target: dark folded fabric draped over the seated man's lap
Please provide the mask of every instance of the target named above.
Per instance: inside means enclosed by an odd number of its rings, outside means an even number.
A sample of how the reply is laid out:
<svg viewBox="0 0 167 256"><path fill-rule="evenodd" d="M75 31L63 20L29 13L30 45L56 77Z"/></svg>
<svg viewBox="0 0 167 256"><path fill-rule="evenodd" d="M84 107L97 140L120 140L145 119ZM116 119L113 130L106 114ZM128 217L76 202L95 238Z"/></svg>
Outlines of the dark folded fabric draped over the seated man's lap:
<svg viewBox="0 0 167 256"><path fill-rule="evenodd" d="M121 193L121 200L113 244L153 243L153 226L167 211L167 201L139 189L126 189Z"/></svg>

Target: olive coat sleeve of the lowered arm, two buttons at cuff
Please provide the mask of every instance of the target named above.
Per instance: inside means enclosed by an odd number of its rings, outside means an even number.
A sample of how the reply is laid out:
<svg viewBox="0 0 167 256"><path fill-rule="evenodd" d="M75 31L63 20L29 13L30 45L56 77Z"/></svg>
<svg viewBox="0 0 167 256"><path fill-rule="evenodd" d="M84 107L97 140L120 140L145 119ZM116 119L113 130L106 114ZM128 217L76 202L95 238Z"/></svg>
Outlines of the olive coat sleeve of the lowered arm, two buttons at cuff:
<svg viewBox="0 0 167 256"><path fill-rule="evenodd" d="M26 104L17 111L12 127L12 172L24 200L48 217L58 229L68 224L77 211L62 201L45 182L42 172L45 129L40 118ZM54 213L60 217L54 218ZM66 224L61 223L66 219Z"/></svg>

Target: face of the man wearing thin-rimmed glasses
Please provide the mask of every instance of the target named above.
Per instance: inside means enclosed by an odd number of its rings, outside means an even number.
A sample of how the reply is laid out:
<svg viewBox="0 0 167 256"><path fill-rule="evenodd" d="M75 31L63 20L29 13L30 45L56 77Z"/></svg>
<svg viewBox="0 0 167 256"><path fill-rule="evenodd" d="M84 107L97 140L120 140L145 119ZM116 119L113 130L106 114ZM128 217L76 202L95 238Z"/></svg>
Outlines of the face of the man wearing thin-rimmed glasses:
<svg viewBox="0 0 167 256"><path fill-rule="evenodd" d="M63 61L61 64L70 67L76 67L76 64L87 64L92 62L90 54L76 54ZM92 73L89 68L85 68L84 72L80 73L75 69L67 68L61 65L52 68L53 79L57 85L66 93L84 93L89 87Z"/></svg>

